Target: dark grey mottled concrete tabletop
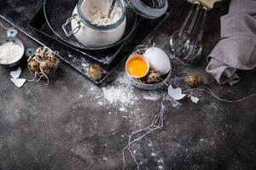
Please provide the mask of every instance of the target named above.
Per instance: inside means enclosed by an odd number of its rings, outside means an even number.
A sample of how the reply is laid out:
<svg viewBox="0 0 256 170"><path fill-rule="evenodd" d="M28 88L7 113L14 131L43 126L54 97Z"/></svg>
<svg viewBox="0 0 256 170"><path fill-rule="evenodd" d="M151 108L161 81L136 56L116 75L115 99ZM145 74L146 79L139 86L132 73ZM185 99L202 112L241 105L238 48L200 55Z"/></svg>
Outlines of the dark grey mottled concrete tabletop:
<svg viewBox="0 0 256 170"><path fill-rule="evenodd" d="M169 37L188 9L183 1L172 1L171 5L177 7L175 15L152 37L152 42L168 54ZM219 17L227 13L228 2L216 7L207 16L200 64L187 68L172 59L172 85L189 89L183 77L198 73L204 86L218 96L240 99L256 93L255 70L240 71L241 82L234 87L218 86L205 72L207 54L219 39ZM1 29L0 34L3 36L5 31ZM21 33L19 38L26 48L38 47ZM21 67L20 77L32 78L26 61ZM123 71L122 67L114 75ZM105 86L122 83L108 82ZM160 110L160 99L144 99L149 92L131 90L137 96L136 105L125 105L127 111L122 111L124 105L104 100L102 87L96 87L63 62L50 77L49 86L42 81L15 88L9 70L0 68L0 169L121 169L122 150L129 134L148 126ZM255 169L256 98L228 104L202 92L191 94L201 99L198 104L189 99L178 103L166 100L163 129L132 144L141 169ZM136 169L128 153L125 158L126 169Z"/></svg>

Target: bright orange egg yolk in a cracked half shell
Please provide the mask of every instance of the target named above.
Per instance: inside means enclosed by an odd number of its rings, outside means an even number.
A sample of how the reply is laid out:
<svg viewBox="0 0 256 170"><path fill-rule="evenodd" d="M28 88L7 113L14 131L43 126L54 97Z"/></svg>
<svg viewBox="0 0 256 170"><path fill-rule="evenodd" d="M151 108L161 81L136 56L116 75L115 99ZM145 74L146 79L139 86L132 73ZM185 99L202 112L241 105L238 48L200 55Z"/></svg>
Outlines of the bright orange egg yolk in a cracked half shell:
<svg viewBox="0 0 256 170"><path fill-rule="evenodd" d="M127 63L127 71L132 77L144 77L148 72L148 64L144 59L135 57Z"/></svg>

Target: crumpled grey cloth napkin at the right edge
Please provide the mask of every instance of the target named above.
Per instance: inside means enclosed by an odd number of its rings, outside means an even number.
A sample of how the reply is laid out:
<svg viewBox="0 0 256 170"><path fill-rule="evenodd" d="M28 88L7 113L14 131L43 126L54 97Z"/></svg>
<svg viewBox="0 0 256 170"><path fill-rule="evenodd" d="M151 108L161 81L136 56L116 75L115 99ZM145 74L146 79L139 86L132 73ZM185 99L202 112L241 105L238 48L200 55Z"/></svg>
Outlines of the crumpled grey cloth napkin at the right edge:
<svg viewBox="0 0 256 170"><path fill-rule="evenodd" d="M221 17L221 38L208 56L207 72L222 85L240 81L237 70L256 67L256 0L231 0Z"/></svg>

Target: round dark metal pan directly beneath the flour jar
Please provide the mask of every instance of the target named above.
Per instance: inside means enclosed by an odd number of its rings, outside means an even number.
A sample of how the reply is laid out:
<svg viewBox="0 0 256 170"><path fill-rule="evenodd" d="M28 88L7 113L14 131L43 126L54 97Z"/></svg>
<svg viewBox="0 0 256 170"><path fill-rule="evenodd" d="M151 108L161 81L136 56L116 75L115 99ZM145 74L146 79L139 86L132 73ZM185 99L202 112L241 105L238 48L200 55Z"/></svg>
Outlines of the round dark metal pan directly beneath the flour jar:
<svg viewBox="0 0 256 170"><path fill-rule="evenodd" d="M55 32L55 35L63 42L66 42L75 48L101 50L116 46L121 42L125 42L126 38L130 37L131 33L137 26L137 14L131 8L127 8L125 32L118 42L102 48L86 47L80 43L73 34L70 37L67 37L65 31L62 29L63 24L66 23L67 20L73 15L73 10L76 8L77 3L78 2L74 0L44 0L44 17L49 28ZM52 10L53 8L55 10ZM70 23L67 24L66 27L67 30L72 30Z"/></svg>

